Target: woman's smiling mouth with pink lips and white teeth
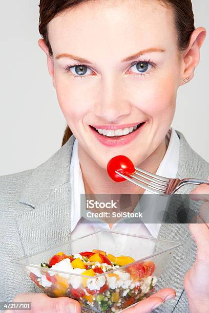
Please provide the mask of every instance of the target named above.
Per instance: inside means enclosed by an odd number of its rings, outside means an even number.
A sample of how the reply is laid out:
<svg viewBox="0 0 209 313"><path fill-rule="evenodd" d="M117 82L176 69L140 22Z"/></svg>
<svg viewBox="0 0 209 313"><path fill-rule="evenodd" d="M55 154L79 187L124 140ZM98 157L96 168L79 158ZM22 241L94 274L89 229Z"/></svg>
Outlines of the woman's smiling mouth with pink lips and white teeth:
<svg viewBox="0 0 209 313"><path fill-rule="evenodd" d="M138 132L142 129L142 127L147 122L142 122L139 124L132 124L131 127L124 127L119 128L117 127L107 127L104 128L103 126L100 126L102 128L93 127L91 125L90 128L93 131L94 135L97 137L97 139L106 146L116 146L116 145L124 145L132 141L138 134ZM117 128L117 129L113 129Z"/></svg>

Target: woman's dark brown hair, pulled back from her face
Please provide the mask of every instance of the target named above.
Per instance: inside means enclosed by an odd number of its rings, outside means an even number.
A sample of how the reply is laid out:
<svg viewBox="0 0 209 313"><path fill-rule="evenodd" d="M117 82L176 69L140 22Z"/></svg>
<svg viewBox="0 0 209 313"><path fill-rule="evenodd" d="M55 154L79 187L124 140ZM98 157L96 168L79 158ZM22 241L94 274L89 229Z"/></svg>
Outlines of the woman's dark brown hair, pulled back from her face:
<svg viewBox="0 0 209 313"><path fill-rule="evenodd" d="M53 57L52 48L48 38L48 23L60 12L78 6L90 0L40 0L39 4L39 33L44 38ZM183 51L190 43L190 37L195 30L194 13L191 0L158 0L162 5L169 5L174 10L174 23L178 34L178 47ZM72 131L67 125L62 139L62 146L71 137Z"/></svg>

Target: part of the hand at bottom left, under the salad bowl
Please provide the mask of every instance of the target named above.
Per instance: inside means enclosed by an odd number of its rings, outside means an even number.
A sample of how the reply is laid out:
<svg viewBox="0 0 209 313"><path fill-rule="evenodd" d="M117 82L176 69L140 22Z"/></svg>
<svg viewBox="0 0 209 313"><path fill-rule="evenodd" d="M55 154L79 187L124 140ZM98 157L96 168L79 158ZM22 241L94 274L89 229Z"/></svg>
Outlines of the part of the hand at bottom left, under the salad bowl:
<svg viewBox="0 0 209 313"><path fill-rule="evenodd" d="M68 297L50 298L45 294L19 294L13 302L31 302L31 313L80 313L80 304ZM22 310L7 310L5 313L22 313Z"/></svg>

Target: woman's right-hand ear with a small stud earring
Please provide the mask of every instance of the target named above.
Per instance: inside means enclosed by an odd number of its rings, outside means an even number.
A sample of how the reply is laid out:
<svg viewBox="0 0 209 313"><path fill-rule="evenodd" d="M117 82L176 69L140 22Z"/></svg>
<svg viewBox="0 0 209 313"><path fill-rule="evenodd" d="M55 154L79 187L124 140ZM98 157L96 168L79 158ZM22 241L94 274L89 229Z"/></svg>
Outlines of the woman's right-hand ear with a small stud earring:
<svg viewBox="0 0 209 313"><path fill-rule="evenodd" d="M191 80L194 77L195 68L200 61L200 48L204 42L205 37L206 29L203 27L196 28L192 33L189 47L182 54L182 80L183 78L189 78ZM181 84L183 84L183 82Z"/></svg>

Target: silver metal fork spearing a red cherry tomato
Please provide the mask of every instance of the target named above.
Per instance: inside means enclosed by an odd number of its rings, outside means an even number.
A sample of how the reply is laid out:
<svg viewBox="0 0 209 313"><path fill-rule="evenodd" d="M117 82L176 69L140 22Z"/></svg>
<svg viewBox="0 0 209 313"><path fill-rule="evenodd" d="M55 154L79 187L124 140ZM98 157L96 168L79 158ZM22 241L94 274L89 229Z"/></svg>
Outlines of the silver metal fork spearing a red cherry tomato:
<svg viewBox="0 0 209 313"><path fill-rule="evenodd" d="M183 180L179 178L167 178L152 174L138 167L135 167L135 172L129 175L124 175L118 171L115 172L131 183L162 196L172 195L184 185L209 185L209 181L196 180L195 178L183 178Z"/></svg>

